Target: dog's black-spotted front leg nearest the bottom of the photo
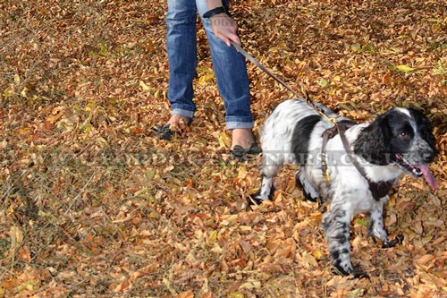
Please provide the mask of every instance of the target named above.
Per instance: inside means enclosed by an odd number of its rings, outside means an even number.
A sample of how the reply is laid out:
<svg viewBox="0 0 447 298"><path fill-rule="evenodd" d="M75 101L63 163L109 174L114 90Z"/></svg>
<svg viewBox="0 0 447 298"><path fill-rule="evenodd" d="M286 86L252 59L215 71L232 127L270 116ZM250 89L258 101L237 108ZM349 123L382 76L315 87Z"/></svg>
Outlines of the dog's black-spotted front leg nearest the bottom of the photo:
<svg viewBox="0 0 447 298"><path fill-rule="evenodd" d="M340 206L331 206L331 211L323 217L331 261L345 276L354 274L350 263L350 217Z"/></svg>

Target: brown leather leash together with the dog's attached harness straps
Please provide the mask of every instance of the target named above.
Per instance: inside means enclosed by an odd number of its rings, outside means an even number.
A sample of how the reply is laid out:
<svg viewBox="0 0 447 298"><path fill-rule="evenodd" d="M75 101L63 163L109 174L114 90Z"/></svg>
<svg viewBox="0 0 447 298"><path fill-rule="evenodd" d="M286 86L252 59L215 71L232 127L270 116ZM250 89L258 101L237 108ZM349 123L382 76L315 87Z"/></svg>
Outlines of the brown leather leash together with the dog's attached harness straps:
<svg viewBox="0 0 447 298"><path fill-rule="evenodd" d="M293 95L295 97L305 98L308 106L311 106L316 111L316 113L318 115L321 115L323 118L325 118L326 121L333 124L333 127L325 130L325 132L323 132L323 136L322 136L323 143L322 143L322 150L321 150L321 159L322 159L321 160L321 170L322 170L322 175L325 180L325 183L328 183L328 184L330 183L330 178L329 178L330 173L329 173L329 169L327 167L327 156L326 156L325 147L326 147L328 140L332 139L338 133L340 135L340 138L342 139L343 147L344 147L345 151L348 153L348 156L350 158L350 161L352 162L352 165L354 165L356 167L356 169L358 170L358 173L360 175L362 175L367 180L367 183L369 184L369 190L371 191L375 200L380 200L390 191L393 181L387 182L387 183L372 182L367 177L367 172L365 171L365 169L362 166L360 166L360 164L358 163L358 160L355 157L353 150L350 149L350 142L346 138L345 132L350 128L350 126L352 126L352 123L348 123L346 121L337 121L337 117L330 117L330 116L326 115L325 111L323 111L323 109L320 106L317 106L316 103L309 98L307 91L303 92L304 96L299 95L299 93L297 91L295 91L294 89L291 89L291 87L288 84L286 84L283 80L278 78L274 74L274 72L271 72L270 70L268 70L263 64L260 64L259 61L257 61L257 59L255 57L253 57L252 55L249 55L249 53L247 53L246 50L244 50L242 47L240 47L240 45L238 45L235 42L232 42L232 46L235 47L236 50L238 52L240 52L241 55L243 55L244 57L249 59L249 61L251 63L255 64L261 71L266 72L266 74L268 74L270 77L272 77L275 81L277 81L281 85L283 85L283 87L285 89L288 89L289 91L291 91L291 93L293 93Z"/></svg>

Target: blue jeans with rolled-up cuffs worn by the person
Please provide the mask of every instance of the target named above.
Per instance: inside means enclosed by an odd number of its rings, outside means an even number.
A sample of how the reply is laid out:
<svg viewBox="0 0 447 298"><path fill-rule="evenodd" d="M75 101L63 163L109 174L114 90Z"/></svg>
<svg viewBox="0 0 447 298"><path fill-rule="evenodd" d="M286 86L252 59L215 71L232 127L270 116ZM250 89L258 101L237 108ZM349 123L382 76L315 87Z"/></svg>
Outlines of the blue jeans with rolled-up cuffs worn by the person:
<svg viewBox="0 0 447 298"><path fill-rule="evenodd" d="M196 74L199 14L207 32L215 80L225 106L226 128L252 128L249 76L243 55L215 37L210 20L202 18L208 10L205 0L168 0L167 3L168 98L172 114L193 118L196 111L192 81ZM223 4L228 7L228 0L223 0Z"/></svg>

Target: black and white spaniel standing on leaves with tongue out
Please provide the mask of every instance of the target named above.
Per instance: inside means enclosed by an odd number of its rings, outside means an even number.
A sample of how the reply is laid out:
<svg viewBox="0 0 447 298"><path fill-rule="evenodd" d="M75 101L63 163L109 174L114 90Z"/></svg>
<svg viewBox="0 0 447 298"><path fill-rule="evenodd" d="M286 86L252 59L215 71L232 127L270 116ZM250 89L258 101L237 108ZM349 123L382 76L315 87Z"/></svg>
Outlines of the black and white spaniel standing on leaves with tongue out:
<svg viewBox="0 0 447 298"><path fill-rule="evenodd" d="M336 117L327 107L318 106L326 115ZM350 122L342 117L338 120ZM353 165L337 134L327 140L325 146L330 178L327 183L322 174L322 134L332 125L303 100L291 99L277 106L261 132L262 186L251 200L271 200L273 179L279 167L298 165L296 180L305 198L329 200L323 227L333 265L343 275L356 275L358 272L350 262L351 218L367 213L370 216L369 235L380 239L384 247L401 243L401 235L388 240L384 230L388 191L402 173L424 176L434 190L437 188L434 176L426 166L434 159L434 135L430 121L416 108L397 107L378 115L372 123L352 123L345 136L353 158L357 159L366 176ZM374 192L371 184L375 184L379 192Z"/></svg>

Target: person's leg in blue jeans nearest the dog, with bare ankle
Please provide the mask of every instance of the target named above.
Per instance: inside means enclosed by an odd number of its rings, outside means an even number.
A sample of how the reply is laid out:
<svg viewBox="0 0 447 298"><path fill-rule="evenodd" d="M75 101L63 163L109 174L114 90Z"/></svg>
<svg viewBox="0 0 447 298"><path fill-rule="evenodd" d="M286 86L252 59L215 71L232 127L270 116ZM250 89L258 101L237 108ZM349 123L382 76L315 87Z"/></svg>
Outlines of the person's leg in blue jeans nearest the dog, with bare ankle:
<svg viewBox="0 0 447 298"><path fill-rule="evenodd" d="M228 47L215 36L207 12L206 1L197 0L198 13L207 32L217 87L225 106L226 128L232 130L232 149L236 145L249 148L254 143L253 115L250 107L249 76L245 58L234 47ZM223 4L228 7L228 1Z"/></svg>

